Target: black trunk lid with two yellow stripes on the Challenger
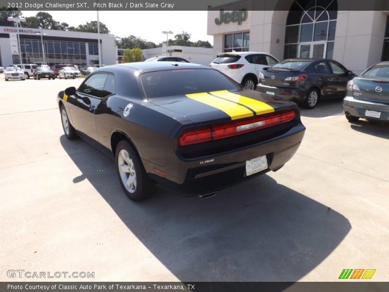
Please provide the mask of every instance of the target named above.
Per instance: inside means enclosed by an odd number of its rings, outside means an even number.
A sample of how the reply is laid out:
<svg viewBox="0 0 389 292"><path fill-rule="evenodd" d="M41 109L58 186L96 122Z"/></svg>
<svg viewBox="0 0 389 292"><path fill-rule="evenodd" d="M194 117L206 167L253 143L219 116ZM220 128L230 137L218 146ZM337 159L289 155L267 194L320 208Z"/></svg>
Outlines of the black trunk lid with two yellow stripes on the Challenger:
<svg viewBox="0 0 389 292"><path fill-rule="evenodd" d="M259 91L211 91L150 100L195 125L224 122L295 108L296 104Z"/></svg>

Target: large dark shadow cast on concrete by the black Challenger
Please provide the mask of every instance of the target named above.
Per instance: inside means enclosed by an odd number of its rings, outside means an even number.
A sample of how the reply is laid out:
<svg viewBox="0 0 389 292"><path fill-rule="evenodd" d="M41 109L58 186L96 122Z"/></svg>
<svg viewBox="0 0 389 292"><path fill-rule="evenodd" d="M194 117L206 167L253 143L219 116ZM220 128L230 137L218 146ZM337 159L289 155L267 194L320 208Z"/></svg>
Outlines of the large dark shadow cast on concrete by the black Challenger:
<svg viewBox="0 0 389 292"><path fill-rule="evenodd" d="M109 158L83 140L63 135L60 143L82 173L69 183L87 179L180 281L294 282L351 230L343 215L268 175L206 200L158 188L153 198L135 203L124 195Z"/></svg>

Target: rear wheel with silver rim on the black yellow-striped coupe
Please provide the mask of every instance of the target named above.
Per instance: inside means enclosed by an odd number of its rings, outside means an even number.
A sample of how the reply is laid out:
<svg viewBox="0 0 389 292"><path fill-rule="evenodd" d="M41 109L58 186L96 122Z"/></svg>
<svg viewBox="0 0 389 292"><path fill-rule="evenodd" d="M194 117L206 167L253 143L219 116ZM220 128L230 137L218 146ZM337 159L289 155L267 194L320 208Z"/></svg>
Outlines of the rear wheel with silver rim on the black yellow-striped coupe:
<svg viewBox="0 0 389 292"><path fill-rule="evenodd" d="M138 153L127 141L119 142L115 151L119 183L132 201L143 201L154 193L154 184L147 176Z"/></svg>

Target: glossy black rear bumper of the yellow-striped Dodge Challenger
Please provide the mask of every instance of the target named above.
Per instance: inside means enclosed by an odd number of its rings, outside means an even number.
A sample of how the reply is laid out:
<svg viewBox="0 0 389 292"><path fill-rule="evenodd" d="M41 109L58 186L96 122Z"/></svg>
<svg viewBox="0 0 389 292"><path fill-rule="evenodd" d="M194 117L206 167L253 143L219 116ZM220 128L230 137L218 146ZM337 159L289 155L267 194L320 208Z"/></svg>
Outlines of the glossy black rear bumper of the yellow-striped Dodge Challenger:
<svg viewBox="0 0 389 292"><path fill-rule="evenodd" d="M156 183L179 192L181 196L195 196L245 182L270 170L278 170L296 153L304 132L305 127L298 124L273 139L229 153L191 161L183 161L177 157L175 161L169 161L169 168L177 169L178 176L166 174L166 177L161 177L155 173L154 168L164 171L165 167L145 160L142 162L146 172ZM267 169L247 176L246 161L263 155L266 155ZM211 163L200 164L212 159Z"/></svg>

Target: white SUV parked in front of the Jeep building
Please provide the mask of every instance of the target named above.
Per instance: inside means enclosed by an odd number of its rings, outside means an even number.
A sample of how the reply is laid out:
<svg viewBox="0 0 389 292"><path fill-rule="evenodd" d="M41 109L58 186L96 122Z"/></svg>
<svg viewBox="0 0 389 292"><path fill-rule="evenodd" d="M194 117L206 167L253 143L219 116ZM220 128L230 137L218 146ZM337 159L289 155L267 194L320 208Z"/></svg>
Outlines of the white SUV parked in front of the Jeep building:
<svg viewBox="0 0 389 292"><path fill-rule="evenodd" d="M217 54L210 66L243 87L255 90L261 70L278 62L274 56L262 52L232 52Z"/></svg>

